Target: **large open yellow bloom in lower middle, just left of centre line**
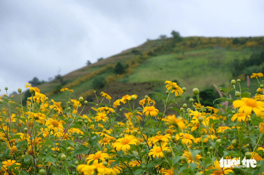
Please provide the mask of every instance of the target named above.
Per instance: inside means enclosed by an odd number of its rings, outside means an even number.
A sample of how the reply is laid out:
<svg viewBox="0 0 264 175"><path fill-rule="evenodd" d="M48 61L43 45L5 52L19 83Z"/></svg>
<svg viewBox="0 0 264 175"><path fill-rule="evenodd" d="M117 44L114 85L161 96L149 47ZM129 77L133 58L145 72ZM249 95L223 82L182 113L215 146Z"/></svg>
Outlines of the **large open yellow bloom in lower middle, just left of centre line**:
<svg viewBox="0 0 264 175"><path fill-rule="evenodd" d="M117 151L122 149L123 152L130 149L130 145L136 145L138 140L134 136L125 136L116 140L116 143L113 143L113 148L116 148Z"/></svg>

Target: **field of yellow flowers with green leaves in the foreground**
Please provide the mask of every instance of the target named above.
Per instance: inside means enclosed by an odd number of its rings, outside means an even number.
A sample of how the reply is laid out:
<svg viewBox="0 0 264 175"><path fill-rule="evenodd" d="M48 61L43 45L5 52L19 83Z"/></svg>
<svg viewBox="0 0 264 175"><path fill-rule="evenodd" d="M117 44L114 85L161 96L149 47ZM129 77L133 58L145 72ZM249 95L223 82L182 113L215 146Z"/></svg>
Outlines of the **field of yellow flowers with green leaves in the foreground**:
<svg viewBox="0 0 264 175"><path fill-rule="evenodd" d="M255 96L240 86L240 79L232 80L232 89L219 88L222 97L216 100L223 103L203 106L194 88L198 103L190 98L192 106L180 109L171 105L186 88L171 81L165 82L163 95L150 92L162 100L163 109L147 95L135 94L111 103L109 94L95 92L97 103L88 103L83 97L72 99L68 88L60 89L65 100L55 102L29 83L31 97L22 106L22 100L9 98L6 87L0 99L0 174L263 175L262 77L251 76L259 83ZM18 92L21 97L21 88ZM230 93L237 99L228 98ZM142 99L139 104L136 98ZM125 103L129 108L117 111ZM177 116L170 114L173 110ZM126 119L120 121L122 114ZM221 166L223 159L232 159L234 166Z"/></svg>

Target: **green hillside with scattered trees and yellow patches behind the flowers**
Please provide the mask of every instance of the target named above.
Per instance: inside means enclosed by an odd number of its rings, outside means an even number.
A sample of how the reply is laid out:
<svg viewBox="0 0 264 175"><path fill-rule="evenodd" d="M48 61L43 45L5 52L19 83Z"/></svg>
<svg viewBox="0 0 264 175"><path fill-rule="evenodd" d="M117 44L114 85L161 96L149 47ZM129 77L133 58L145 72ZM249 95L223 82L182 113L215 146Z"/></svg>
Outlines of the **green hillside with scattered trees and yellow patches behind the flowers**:
<svg viewBox="0 0 264 175"><path fill-rule="evenodd" d="M181 88L188 87L182 95L185 99L179 100L181 106L192 97L194 87L205 92L208 89L216 91L213 84L231 88L230 81L237 78L246 87L248 74L264 71L263 48L264 37L182 38L176 33L172 38L148 40L141 46L37 87L55 101L65 101L65 94L59 90L63 87L74 90L73 98L83 96L93 102L96 102L93 91L97 91L97 96L101 91L108 93L112 97L111 103L125 94L137 94L137 102L145 95L158 101L149 92L164 94L164 82L169 80L177 82ZM117 62L122 66L117 67ZM117 70L122 73L116 73ZM251 86L254 81L251 79ZM14 98L19 101L18 97Z"/></svg>

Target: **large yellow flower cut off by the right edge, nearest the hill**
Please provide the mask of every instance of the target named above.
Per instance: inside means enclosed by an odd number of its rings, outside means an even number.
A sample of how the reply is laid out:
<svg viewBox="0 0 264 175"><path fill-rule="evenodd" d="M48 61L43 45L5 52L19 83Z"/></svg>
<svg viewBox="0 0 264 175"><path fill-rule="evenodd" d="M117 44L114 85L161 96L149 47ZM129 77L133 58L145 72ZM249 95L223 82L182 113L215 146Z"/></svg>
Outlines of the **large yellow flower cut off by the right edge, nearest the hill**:
<svg viewBox="0 0 264 175"><path fill-rule="evenodd" d="M257 116L260 116L261 112L264 111L264 102L246 97L241 98L241 100L233 101L233 106L234 108L239 107L238 112L243 113L244 111L246 116L250 114L252 110Z"/></svg>

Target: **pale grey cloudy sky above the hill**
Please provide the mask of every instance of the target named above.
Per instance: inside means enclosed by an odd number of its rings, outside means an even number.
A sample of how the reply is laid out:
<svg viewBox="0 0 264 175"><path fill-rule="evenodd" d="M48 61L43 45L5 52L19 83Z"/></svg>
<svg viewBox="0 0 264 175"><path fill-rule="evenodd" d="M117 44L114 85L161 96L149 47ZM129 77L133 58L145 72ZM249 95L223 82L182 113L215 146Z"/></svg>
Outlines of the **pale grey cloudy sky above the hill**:
<svg viewBox="0 0 264 175"><path fill-rule="evenodd" d="M0 1L0 94L25 91L172 30L181 36L264 36L264 1Z"/></svg>

